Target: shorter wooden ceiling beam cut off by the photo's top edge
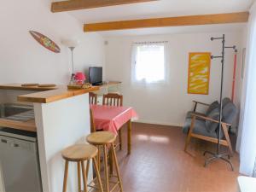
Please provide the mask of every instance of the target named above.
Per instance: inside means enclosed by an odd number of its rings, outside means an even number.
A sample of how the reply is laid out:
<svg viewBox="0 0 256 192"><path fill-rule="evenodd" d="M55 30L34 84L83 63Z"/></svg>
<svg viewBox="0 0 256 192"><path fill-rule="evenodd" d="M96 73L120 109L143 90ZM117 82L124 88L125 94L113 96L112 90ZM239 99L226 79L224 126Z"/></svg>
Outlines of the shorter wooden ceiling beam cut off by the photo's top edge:
<svg viewBox="0 0 256 192"><path fill-rule="evenodd" d="M62 12L79 9L102 8L114 5L154 2L158 0L67 0L51 3L51 11Z"/></svg>

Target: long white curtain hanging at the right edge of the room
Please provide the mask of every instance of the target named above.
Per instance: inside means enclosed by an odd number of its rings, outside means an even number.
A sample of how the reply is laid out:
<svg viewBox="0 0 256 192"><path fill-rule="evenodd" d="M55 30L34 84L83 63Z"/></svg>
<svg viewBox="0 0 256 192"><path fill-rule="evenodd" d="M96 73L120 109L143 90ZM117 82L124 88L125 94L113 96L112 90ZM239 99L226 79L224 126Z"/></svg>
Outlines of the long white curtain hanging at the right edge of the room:
<svg viewBox="0 0 256 192"><path fill-rule="evenodd" d="M246 79L241 102L240 172L253 176L256 160L256 3L250 10Z"/></svg>

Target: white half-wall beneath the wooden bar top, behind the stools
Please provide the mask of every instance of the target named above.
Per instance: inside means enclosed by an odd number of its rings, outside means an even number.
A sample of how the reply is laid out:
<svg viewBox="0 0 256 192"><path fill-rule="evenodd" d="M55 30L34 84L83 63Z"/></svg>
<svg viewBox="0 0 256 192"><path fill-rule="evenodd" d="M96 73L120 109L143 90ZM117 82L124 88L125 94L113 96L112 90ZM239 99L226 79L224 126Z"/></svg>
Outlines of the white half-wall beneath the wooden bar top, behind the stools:
<svg viewBox="0 0 256 192"><path fill-rule="evenodd" d="M84 143L85 136L90 134L89 97L84 94L46 104L34 103L34 109L43 190L60 192L64 176L61 150ZM78 191L75 163L69 166L67 191Z"/></svg>

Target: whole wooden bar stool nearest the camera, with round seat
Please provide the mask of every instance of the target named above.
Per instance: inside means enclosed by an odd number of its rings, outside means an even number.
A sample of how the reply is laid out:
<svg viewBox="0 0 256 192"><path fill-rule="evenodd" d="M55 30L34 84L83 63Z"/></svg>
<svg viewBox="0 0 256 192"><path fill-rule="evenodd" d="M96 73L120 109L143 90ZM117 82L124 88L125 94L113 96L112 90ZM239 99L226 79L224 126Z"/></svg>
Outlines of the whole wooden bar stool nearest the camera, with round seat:
<svg viewBox="0 0 256 192"><path fill-rule="evenodd" d="M65 172L64 172L64 181L63 181L63 192L67 191L67 174L68 174L68 163L70 161L77 162L78 164L78 181L79 181L79 192L88 192L88 186L90 188L96 188L95 186L87 184L87 177L89 172L90 160L93 162L93 166L96 172L96 179L98 181L98 189L103 192L101 175L96 163L96 154L98 149L90 144L76 144L65 148L61 154L65 162ZM84 169L84 161L87 161L86 170ZM82 168L81 168L82 166ZM81 171L84 182L84 190L81 189ZM85 174L86 171L86 174ZM95 180L95 179L94 179ZM94 180L92 182L94 182ZM91 182L91 183L92 183Z"/></svg>

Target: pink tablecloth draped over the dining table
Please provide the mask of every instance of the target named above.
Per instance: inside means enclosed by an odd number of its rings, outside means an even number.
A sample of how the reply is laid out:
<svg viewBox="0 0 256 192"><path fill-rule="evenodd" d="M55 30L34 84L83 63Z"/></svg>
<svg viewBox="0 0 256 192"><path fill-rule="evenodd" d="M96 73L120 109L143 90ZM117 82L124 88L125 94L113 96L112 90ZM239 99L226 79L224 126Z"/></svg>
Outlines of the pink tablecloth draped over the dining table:
<svg viewBox="0 0 256 192"><path fill-rule="evenodd" d="M137 118L131 107L114 107L107 105L90 105L97 130L112 131L115 135L125 123Z"/></svg>

